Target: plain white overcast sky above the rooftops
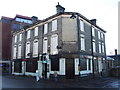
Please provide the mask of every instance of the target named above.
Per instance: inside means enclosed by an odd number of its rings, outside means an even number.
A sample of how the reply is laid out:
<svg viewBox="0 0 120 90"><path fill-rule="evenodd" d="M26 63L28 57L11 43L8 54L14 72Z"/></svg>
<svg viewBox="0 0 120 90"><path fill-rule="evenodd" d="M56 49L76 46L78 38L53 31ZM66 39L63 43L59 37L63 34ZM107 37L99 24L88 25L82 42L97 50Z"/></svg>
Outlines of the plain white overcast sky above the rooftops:
<svg viewBox="0 0 120 90"><path fill-rule="evenodd" d="M1 0L0 17L37 16L45 19L56 13L56 5L67 12L78 12L88 19L97 19L97 25L107 31L106 52L114 54L118 49L118 1L119 0Z"/></svg>

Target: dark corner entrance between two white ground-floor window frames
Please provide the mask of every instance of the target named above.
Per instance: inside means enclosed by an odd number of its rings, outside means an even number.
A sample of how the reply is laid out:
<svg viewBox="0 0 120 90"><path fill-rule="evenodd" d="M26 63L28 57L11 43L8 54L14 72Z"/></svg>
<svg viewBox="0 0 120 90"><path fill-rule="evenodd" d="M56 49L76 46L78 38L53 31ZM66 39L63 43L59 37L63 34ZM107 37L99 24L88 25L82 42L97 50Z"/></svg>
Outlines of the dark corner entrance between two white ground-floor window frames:
<svg viewBox="0 0 120 90"><path fill-rule="evenodd" d="M66 58L66 79L73 79L75 76L74 59Z"/></svg>

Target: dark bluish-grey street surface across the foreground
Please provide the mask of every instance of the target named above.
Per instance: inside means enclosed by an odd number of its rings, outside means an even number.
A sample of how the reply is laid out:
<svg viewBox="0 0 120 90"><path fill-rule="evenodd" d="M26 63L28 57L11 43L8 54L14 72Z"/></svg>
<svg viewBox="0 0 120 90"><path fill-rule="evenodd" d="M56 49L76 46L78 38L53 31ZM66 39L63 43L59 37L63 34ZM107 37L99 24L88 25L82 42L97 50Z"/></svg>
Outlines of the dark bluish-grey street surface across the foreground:
<svg viewBox="0 0 120 90"><path fill-rule="evenodd" d="M31 76L2 76L2 88L100 88L120 90L120 77L82 77L76 79L40 79ZM4 89L2 89L4 90Z"/></svg>

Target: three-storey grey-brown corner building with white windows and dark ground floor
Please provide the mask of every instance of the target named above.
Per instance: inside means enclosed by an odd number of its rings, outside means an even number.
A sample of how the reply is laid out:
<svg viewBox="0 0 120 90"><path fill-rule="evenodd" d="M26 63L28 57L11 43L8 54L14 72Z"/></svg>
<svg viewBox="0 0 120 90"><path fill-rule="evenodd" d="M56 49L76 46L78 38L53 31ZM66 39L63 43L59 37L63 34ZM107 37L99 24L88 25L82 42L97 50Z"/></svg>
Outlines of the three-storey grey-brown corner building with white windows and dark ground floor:
<svg viewBox="0 0 120 90"><path fill-rule="evenodd" d="M65 12L61 5L57 13L44 20L13 32L12 74L36 75L45 71L47 78L58 75L100 74L106 57L105 32L76 12Z"/></svg>

